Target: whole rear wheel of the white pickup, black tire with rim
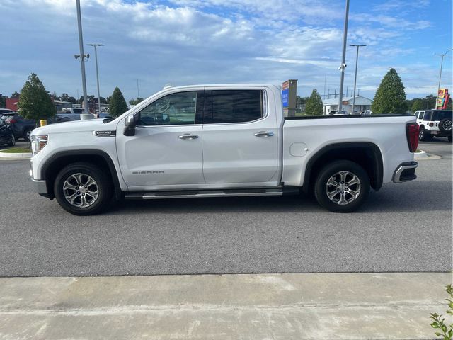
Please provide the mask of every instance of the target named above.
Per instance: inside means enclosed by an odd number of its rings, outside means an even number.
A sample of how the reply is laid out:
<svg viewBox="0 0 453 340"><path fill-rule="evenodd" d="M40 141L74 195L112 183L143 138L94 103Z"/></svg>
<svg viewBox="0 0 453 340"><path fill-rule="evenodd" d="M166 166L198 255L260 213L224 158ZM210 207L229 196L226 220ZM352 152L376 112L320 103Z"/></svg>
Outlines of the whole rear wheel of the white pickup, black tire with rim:
<svg viewBox="0 0 453 340"><path fill-rule="evenodd" d="M347 173L343 181L341 181L343 175L340 173ZM338 186L328 185L331 180L331 183L338 182ZM359 183L357 183L357 180ZM353 195L352 191L357 195ZM329 198L328 193L331 193L331 198ZM332 212L357 210L365 202L368 194L369 177L367 171L359 164L346 160L339 160L326 165L321 169L314 185L314 196L319 205Z"/></svg>

